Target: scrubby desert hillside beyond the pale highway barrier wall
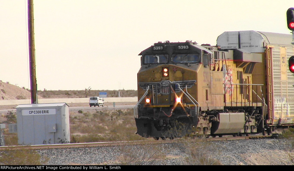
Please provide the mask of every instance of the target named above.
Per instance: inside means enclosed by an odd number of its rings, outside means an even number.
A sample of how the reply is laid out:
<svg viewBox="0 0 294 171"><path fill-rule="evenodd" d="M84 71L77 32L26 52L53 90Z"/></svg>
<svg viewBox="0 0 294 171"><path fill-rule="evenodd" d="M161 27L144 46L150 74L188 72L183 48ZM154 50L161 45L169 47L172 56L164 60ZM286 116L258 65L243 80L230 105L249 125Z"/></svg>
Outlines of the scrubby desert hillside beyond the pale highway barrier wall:
<svg viewBox="0 0 294 171"><path fill-rule="evenodd" d="M90 89L90 90L89 90ZM88 98L99 96L99 92L106 92L107 97L119 97L118 90L44 90L37 91L38 99L42 98ZM135 97L137 90L120 90L120 97ZM4 83L0 80L0 100L30 99L30 90L20 88L16 85Z"/></svg>

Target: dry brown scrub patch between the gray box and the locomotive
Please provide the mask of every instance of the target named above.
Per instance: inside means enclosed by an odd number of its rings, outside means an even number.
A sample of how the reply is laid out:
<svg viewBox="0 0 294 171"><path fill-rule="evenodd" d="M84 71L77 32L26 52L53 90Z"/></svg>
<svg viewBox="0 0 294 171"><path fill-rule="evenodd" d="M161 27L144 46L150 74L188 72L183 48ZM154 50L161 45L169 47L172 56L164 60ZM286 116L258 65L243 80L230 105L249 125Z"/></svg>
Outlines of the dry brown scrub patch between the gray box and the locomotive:
<svg viewBox="0 0 294 171"><path fill-rule="evenodd" d="M104 109L104 108L103 108ZM72 117L72 116L74 117ZM90 143L105 141L120 141L127 138L131 140L142 140L136 134L136 123L133 109L107 110L94 113L83 113L70 115L70 131L73 143Z"/></svg>

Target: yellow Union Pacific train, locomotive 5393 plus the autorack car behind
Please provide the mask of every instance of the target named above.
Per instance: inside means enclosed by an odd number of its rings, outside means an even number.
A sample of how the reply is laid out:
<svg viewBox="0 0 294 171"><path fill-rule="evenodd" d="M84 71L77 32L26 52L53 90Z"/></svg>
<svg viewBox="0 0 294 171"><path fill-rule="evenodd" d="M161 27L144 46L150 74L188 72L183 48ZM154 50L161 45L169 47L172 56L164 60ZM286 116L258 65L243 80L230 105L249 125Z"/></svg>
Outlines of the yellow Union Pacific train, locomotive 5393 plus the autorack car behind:
<svg viewBox="0 0 294 171"><path fill-rule="evenodd" d="M137 134L270 135L294 125L292 35L228 31L216 46L158 42L139 53Z"/></svg>

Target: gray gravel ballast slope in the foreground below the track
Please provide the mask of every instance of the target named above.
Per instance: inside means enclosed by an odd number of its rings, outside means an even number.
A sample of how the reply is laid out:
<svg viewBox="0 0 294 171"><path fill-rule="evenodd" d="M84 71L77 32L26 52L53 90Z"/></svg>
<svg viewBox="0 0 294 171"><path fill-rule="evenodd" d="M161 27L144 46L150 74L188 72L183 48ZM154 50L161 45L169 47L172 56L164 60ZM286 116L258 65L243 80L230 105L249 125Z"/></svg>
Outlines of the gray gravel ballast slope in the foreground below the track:
<svg viewBox="0 0 294 171"><path fill-rule="evenodd" d="M286 139L251 139L212 141L206 145L190 143L192 150L205 150L203 154L220 162L220 165L293 165L289 154L294 155L292 141ZM156 160L152 165L191 165L187 162L189 145L183 143L158 144L165 158ZM153 148L152 147L152 148ZM42 158L47 158L46 165L120 165L122 147L85 147L37 150ZM129 146L131 154L139 153L142 147ZM133 149L132 149L133 148ZM139 150L138 150L139 149ZM289 150L292 149L292 152ZM152 151L152 150L150 150ZM191 151L190 151L191 152ZM144 163L148 165L147 163ZM195 163L197 164L197 163Z"/></svg>

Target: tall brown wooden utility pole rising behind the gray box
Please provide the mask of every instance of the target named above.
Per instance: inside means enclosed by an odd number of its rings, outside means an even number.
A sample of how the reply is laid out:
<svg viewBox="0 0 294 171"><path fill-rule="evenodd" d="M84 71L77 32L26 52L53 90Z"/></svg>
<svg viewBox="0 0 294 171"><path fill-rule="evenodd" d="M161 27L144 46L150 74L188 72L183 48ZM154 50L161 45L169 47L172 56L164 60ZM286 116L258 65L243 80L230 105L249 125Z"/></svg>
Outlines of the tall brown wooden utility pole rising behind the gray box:
<svg viewBox="0 0 294 171"><path fill-rule="evenodd" d="M29 59L31 81L31 103L38 103L37 80L35 64L35 41L34 41L34 8L33 0L28 0L28 30L29 30Z"/></svg>

